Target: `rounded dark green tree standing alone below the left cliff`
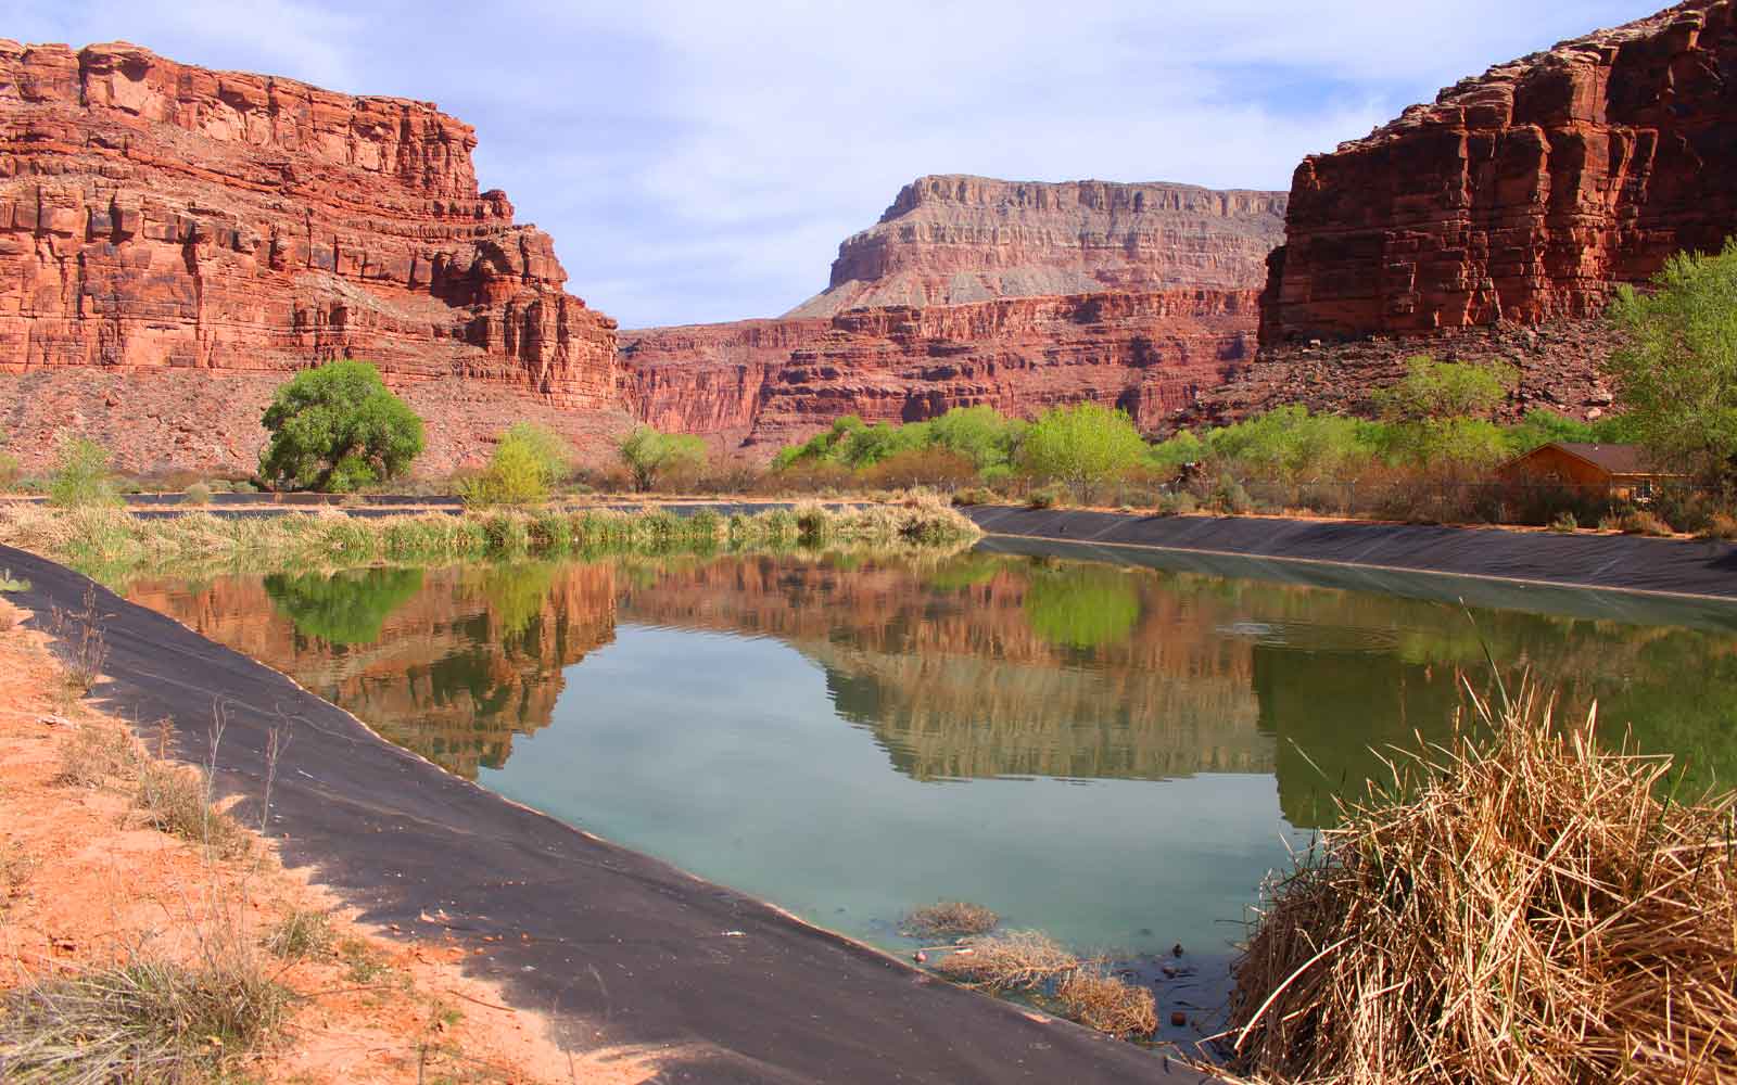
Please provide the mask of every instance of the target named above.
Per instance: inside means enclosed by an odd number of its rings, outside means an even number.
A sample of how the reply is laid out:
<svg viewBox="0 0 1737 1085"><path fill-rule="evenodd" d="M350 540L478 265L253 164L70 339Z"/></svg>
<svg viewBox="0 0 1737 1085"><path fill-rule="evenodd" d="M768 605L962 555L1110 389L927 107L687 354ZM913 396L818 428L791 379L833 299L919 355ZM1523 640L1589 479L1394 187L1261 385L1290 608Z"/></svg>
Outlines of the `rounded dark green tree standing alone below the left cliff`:
<svg viewBox="0 0 1737 1085"><path fill-rule="evenodd" d="M422 418L365 361L328 361L278 389L262 418L271 484L349 491L391 479L422 453Z"/></svg>

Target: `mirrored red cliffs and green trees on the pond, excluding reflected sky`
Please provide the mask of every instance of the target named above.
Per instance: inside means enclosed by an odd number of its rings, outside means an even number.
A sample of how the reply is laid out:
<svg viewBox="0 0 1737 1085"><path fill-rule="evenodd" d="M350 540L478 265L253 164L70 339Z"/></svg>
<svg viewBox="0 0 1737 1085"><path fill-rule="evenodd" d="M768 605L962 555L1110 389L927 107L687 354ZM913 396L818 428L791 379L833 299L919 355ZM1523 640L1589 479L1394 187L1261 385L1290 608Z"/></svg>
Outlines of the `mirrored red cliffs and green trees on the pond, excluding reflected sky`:
<svg viewBox="0 0 1737 1085"><path fill-rule="evenodd" d="M1298 826L1445 738L1485 644L1602 701L1607 734L1737 774L1737 653L1720 632L1011 556L728 556L368 569L132 597L271 663L474 776L552 719L563 668L617 623L776 637L841 719L915 779L1273 773ZM679 660L672 660L679 665ZM1694 682L1683 681L1695 675ZM776 691L768 691L776 696Z"/></svg>

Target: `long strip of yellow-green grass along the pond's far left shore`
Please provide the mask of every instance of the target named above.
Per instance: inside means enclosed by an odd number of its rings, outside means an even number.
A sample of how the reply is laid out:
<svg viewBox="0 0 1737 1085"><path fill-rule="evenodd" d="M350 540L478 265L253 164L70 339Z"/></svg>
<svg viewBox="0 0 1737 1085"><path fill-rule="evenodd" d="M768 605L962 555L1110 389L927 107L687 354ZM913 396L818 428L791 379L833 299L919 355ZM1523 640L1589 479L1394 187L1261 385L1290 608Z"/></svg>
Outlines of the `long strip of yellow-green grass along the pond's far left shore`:
<svg viewBox="0 0 1737 1085"><path fill-rule="evenodd" d="M568 550L797 547L820 543L947 545L978 536L969 519L940 500L898 505L771 509L723 517L667 509L617 512L486 510L464 516L354 517L335 509L269 517L188 512L135 517L125 509L0 509L0 542L68 561L99 575L141 566L234 562L323 566L471 561L554 556Z"/></svg>

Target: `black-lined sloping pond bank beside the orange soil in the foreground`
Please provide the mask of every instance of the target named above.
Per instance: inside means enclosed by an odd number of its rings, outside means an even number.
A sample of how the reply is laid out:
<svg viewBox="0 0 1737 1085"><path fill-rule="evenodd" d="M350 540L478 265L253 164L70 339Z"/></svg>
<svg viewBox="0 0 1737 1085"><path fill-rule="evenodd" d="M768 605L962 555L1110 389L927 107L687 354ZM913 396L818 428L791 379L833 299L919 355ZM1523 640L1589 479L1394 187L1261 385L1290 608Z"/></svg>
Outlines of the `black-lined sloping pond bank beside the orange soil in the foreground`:
<svg viewBox="0 0 1737 1085"><path fill-rule="evenodd" d="M89 583L9 547L0 568L30 582L10 597L38 623L76 609ZM175 753L205 762L221 705L219 790L247 804L281 727L271 828L285 863L405 937L452 932L476 974L551 1012L575 1049L662 1049L658 1082L1200 1080L505 802L162 615L101 589L97 606L102 708L141 729L172 719Z"/></svg>

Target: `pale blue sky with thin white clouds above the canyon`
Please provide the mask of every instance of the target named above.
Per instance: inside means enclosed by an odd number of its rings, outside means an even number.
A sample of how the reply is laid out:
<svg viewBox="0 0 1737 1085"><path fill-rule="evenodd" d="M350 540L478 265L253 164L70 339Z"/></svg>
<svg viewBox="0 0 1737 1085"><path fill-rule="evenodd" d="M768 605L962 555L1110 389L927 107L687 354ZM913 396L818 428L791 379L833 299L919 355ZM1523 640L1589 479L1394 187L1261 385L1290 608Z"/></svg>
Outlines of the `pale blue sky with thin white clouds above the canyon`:
<svg viewBox="0 0 1737 1085"><path fill-rule="evenodd" d="M438 102L624 326L775 316L922 174L1289 187L1303 155L1662 0L0 0L24 42Z"/></svg>

